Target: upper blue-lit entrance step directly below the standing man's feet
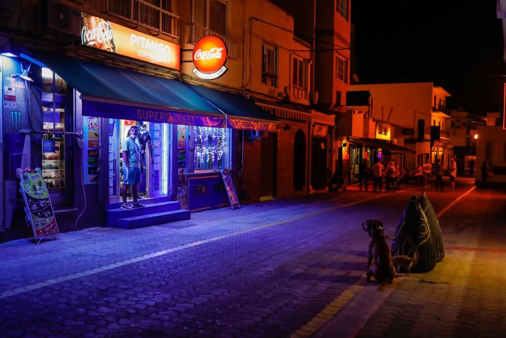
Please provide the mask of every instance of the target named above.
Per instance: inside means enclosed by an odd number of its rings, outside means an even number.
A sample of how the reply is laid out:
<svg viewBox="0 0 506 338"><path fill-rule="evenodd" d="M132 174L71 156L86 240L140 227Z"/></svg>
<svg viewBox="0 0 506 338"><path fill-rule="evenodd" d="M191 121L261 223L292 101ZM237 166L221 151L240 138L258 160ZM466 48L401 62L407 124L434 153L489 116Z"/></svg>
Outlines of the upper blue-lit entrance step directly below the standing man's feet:
<svg viewBox="0 0 506 338"><path fill-rule="evenodd" d="M144 201L141 202L142 204L145 204ZM158 214L158 213L166 213L171 211L180 211L179 210L180 203L179 201L166 201L166 202L157 202L157 203L146 203L145 207L141 208L132 208L130 210L125 210L121 208L115 208L115 209L109 209L106 210L106 225L108 227L116 227L118 219L124 219L124 218L130 218L130 217L147 217L152 214ZM181 210L185 211L185 210ZM189 219L190 217L186 218ZM176 219L180 220L180 219ZM163 223L163 222L162 222ZM166 223L166 221L165 221ZM161 224L161 223L158 223ZM153 225L153 224L150 224ZM147 226L141 226L141 227L147 227ZM138 227L138 228L141 228Z"/></svg>

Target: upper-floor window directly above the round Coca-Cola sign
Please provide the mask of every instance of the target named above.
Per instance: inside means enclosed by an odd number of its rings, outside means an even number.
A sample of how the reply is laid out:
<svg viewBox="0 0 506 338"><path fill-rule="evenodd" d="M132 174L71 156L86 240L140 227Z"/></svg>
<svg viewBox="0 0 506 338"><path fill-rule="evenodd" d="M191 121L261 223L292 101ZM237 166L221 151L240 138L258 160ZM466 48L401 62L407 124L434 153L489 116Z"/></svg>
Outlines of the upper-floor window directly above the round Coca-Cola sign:
<svg viewBox="0 0 506 338"><path fill-rule="evenodd" d="M193 23L226 35L227 1L226 0L193 0Z"/></svg>

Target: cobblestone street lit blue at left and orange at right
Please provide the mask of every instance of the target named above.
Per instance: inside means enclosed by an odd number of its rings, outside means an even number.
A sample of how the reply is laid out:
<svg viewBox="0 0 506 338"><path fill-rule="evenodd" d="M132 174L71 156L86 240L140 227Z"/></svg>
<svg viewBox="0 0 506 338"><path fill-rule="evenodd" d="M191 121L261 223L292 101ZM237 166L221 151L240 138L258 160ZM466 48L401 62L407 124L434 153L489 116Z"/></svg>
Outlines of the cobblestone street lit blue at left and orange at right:
<svg viewBox="0 0 506 338"><path fill-rule="evenodd" d="M5 243L0 335L502 336L506 194L458 183L455 193L427 192L441 213L445 259L429 273L398 274L382 292L360 278L368 243L360 224L381 219L393 235L420 193L413 187Z"/></svg>

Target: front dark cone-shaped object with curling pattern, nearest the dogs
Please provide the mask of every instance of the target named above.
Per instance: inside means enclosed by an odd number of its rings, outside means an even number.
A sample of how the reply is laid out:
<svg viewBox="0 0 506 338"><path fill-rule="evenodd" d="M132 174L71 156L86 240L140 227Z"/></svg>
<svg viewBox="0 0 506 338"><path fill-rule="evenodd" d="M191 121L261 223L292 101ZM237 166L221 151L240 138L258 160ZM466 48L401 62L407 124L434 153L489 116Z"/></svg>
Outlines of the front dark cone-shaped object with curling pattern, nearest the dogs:
<svg viewBox="0 0 506 338"><path fill-rule="evenodd" d="M431 236L429 220L420 207L416 196L412 196L402 213L392 243L392 256L407 255L413 257L417 251L417 262L411 272L428 272L436 266L436 245Z"/></svg>

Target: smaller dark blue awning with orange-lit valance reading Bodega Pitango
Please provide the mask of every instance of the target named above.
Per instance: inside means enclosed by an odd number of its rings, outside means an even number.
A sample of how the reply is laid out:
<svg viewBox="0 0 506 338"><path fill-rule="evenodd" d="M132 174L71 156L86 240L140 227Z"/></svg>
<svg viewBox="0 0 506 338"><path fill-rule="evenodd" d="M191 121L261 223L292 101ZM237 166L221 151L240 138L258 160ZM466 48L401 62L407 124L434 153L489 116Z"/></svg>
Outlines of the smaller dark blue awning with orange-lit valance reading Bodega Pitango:
<svg viewBox="0 0 506 338"><path fill-rule="evenodd" d="M275 131L279 126L276 117L270 115L241 94L224 92L204 86L186 84L199 96L227 115L227 127L245 130Z"/></svg>

